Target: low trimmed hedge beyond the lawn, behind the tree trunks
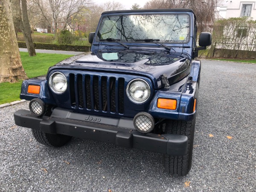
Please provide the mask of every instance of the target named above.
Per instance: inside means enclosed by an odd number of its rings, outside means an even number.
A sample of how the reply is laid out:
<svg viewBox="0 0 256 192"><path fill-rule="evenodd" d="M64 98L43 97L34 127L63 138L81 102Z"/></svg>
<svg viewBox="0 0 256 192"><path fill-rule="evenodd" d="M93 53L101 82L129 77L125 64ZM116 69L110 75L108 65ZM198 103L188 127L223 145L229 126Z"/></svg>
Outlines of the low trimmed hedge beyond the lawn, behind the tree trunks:
<svg viewBox="0 0 256 192"><path fill-rule="evenodd" d="M20 48L26 48L26 42L18 41L18 46ZM34 46L35 46L35 49L79 51L79 52L89 51L89 46L83 46L83 45L34 43Z"/></svg>

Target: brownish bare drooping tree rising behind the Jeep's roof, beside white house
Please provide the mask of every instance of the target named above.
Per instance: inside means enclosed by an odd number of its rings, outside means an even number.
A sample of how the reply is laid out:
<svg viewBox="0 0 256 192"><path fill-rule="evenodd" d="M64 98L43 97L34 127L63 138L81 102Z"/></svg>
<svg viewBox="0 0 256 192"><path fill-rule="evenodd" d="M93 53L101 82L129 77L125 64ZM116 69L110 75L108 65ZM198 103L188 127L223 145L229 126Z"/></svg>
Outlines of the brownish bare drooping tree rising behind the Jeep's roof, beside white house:
<svg viewBox="0 0 256 192"><path fill-rule="evenodd" d="M197 17L198 32L209 31L215 19L215 7L221 0L150 0L145 9L193 9Z"/></svg>

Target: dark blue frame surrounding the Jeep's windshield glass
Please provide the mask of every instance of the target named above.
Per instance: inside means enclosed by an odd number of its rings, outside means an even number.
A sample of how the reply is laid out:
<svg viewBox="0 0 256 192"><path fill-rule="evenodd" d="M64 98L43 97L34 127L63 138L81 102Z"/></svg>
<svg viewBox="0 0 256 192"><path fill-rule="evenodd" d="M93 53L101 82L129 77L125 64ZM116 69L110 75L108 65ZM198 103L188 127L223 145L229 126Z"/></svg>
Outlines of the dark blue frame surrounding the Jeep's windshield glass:
<svg viewBox="0 0 256 192"><path fill-rule="evenodd" d="M97 29L96 29L96 32L95 32L95 40L96 42L99 42L99 43L116 43L115 41L100 41L99 40L99 37L98 37L98 32L99 32L99 26L100 26L100 23L102 22L102 19L103 17L108 17L108 16L122 16L122 15L188 15L189 16L189 33L188 33L188 41L186 42L161 42L159 41L160 43L162 44L188 44L190 41L191 41L191 30L192 30L192 26L191 26L191 15L187 12L143 12L143 13L139 13L139 12L134 12L134 13L131 13L131 12L124 12L124 13L111 13L111 14L102 14L100 20L99 20L99 24L97 26ZM145 42L145 41L119 41L119 42L122 42L122 43L128 43L128 44L158 44L159 42Z"/></svg>

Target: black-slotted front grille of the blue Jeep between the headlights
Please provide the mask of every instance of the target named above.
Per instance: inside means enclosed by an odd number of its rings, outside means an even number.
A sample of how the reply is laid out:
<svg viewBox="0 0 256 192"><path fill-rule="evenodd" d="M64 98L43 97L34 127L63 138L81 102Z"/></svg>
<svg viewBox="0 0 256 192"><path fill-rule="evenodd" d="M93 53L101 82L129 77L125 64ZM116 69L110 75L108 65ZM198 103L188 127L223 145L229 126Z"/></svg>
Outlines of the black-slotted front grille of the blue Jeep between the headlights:
<svg viewBox="0 0 256 192"><path fill-rule="evenodd" d="M72 107L124 113L124 78L69 74Z"/></svg>

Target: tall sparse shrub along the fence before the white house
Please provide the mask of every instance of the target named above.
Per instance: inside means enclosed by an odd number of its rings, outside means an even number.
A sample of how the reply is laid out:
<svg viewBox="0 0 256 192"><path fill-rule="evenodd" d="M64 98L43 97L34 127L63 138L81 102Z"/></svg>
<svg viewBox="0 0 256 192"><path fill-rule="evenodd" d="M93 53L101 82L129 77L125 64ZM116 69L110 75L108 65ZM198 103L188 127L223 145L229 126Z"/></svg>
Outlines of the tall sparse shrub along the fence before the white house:
<svg viewBox="0 0 256 192"><path fill-rule="evenodd" d="M213 53L220 57L254 58L256 51L256 21L251 17L217 20L213 26Z"/></svg>

